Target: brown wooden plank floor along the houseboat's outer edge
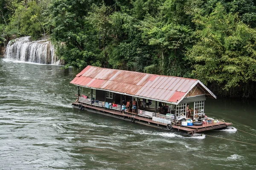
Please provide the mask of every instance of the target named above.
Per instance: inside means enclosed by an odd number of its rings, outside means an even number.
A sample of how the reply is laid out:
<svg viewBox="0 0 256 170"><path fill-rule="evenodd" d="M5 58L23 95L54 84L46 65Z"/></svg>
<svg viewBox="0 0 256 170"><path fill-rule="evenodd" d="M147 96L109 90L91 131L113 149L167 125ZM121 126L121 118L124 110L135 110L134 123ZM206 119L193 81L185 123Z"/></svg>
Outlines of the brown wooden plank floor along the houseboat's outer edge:
<svg viewBox="0 0 256 170"><path fill-rule="evenodd" d="M147 117L142 117L142 116L137 116L137 114L132 113L132 112L124 112L124 114L121 111L116 111L116 110L112 110L112 109L106 109L104 107L97 107L97 106L91 106L91 105L87 105L87 104L83 104L83 103L73 103L74 105L79 105L82 104L85 108L91 108L91 109L95 109L98 111L102 111L102 112L106 112L106 113L112 113L115 115L119 115L119 116L126 116L128 118L131 118L132 116L134 116L135 120L138 121L144 121L144 122L148 122L149 124L156 124L156 125L163 125L166 126L166 124L164 123L160 123L160 122L155 122L152 119L149 119ZM203 129L209 129L209 127L216 127L216 126L229 126L232 125L232 123L225 123L225 122L212 122L212 124L203 124L201 126L182 126L182 125L173 125L172 127L175 129L180 129L180 130L185 130L187 132L192 132L192 131L197 131L198 129L201 129L200 131L204 131Z"/></svg>

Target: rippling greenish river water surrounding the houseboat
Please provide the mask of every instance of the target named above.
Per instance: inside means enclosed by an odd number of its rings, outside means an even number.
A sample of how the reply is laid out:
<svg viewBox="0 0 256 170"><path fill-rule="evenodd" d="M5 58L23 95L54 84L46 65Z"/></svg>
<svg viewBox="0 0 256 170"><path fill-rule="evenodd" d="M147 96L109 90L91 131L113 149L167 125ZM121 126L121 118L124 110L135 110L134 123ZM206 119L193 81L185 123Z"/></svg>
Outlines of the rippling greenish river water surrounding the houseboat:
<svg viewBox="0 0 256 170"><path fill-rule="evenodd" d="M0 169L256 169L255 145L184 137L72 108L76 74L0 58ZM207 99L205 111L256 134L253 101ZM205 134L256 144L256 136L236 129Z"/></svg>

